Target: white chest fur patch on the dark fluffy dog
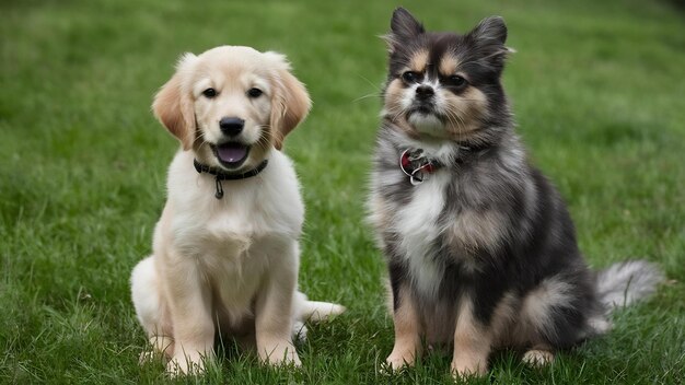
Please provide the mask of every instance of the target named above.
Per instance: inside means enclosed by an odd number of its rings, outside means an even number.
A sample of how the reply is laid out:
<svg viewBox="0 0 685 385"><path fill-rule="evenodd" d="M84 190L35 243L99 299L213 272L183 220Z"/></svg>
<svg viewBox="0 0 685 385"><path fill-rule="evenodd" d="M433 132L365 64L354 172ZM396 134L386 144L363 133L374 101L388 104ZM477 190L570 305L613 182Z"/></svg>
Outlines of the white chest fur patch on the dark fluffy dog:
<svg viewBox="0 0 685 385"><path fill-rule="evenodd" d="M438 172L414 186L411 200L397 210L394 220L394 231L400 236L402 254L407 259L414 284L429 298L436 296L443 275L443 267L436 257L436 241L442 232L439 222L449 178L448 173Z"/></svg>

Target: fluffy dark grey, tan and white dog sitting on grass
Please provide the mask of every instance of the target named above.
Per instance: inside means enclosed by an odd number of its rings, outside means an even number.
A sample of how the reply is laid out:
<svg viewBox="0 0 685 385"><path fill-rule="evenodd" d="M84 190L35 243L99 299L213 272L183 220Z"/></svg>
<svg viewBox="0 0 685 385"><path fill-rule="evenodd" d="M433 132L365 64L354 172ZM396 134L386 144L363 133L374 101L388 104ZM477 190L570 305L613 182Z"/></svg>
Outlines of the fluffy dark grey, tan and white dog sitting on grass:
<svg viewBox="0 0 685 385"><path fill-rule="evenodd" d="M531 166L500 82L507 27L426 32L397 9L369 200L390 270L395 346L410 365L453 346L454 375L483 374L494 348L529 363L611 327L611 308L650 294L646 261L592 272L553 185Z"/></svg>

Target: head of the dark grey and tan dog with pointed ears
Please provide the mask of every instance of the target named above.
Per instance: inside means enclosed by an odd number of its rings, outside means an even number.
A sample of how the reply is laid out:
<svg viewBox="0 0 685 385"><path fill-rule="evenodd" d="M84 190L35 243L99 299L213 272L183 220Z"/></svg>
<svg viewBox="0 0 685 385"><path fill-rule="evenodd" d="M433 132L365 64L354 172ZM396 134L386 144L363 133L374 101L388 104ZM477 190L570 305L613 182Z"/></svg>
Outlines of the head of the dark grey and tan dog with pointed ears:
<svg viewBox="0 0 685 385"><path fill-rule="evenodd" d="M500 77L507 26L488 18L465 35L426 32L397 9L385 36L390 70L384 116L415 138L479 141L510 118Z"/></svg>

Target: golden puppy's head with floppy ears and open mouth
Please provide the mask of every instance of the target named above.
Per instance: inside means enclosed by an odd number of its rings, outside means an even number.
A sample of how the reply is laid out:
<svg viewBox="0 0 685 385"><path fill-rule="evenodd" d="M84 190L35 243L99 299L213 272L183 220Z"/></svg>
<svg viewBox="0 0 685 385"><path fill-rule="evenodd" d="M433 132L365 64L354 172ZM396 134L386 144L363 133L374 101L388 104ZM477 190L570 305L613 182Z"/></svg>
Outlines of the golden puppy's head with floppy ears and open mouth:
<svg viewBox="0 0 685 385"><path fill-rule="evenodd" d="M222 46L183 55L152 109L199 162L240 171L280 150L310 106L285 56Z"/></svg>

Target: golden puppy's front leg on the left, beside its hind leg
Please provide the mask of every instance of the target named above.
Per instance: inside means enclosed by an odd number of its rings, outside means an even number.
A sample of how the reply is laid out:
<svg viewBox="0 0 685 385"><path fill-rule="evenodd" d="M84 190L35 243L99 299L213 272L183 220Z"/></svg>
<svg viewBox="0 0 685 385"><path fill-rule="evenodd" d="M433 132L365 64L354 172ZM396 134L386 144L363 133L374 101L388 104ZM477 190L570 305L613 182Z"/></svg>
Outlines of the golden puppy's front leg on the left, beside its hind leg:
<svg viewBox="0 0 685 385"><path fill-rule="evenodd" d="M214 324L211 293L195 260L175 259L164 266L172 324L174 357L166 370L172 374L201 373L205 359L213 355Z"/></svg>

